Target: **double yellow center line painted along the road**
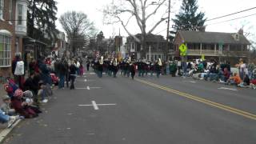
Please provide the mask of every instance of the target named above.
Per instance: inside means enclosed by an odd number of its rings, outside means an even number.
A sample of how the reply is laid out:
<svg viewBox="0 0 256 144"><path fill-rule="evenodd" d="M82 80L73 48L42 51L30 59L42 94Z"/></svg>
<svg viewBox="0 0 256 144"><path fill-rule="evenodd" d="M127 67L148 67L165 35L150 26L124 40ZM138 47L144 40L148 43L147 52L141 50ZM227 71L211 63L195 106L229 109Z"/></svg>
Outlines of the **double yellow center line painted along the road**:
<svg viewBox="0 0 256 144"><path fill-rule="evenodd" d="M161 89L161 90L166 90L166 91L168 91L170 93L173 93L173 94L178 94L178 95L180 95L182 97L185 97L185 98L190 98L190 99L192 99L194 101L197 101L197 102L205 103L206 105L209 105L209 106L217 107L221 110L226 110L226 111L229 111L231 113L242 115L243 117L256 120L256 115L255 114L251 114L251 113L246 112L244 110L238 110L238 109L235 109L235 108L230 107L230 106L226 106L226 105L223 105L223 104L220 104L220 103L217 103L217 102L212 102L212 101L207 100L205 98L199 98L199 97L196 97L194 95L186 94L186 93L183 93L183 92L178 91L178 90L173 90L173 89L170 89L170 88L165 87L165 86L160 86L160 85L154 84L152 82L144 81L142 79L135 78L135 80L138 81L138 82L142 82L142 83L144 83L146 85L149 85L149 86L157 87L158 89Z"/></svg>

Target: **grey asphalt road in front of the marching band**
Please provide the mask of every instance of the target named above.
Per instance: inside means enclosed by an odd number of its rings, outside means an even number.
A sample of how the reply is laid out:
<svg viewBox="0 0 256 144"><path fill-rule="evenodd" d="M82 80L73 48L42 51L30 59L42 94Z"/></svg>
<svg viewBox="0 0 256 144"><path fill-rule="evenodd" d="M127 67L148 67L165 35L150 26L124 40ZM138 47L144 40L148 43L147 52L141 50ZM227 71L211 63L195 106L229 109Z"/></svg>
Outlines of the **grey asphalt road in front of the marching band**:
<svg viewBox="0 0 256 144"><path fill-rule="evenodd" d="M256 90L169 75L131 80L89 73L75 86L54 90L44 113L21 122L5 143L256 142Z"/></svg>

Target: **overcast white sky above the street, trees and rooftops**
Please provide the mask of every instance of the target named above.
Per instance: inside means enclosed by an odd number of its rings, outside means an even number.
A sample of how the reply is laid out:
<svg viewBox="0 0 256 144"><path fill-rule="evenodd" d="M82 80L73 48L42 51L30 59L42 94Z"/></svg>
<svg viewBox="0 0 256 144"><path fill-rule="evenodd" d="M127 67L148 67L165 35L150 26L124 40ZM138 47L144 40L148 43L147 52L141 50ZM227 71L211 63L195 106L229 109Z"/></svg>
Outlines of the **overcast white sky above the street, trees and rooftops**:
<svg viewBox="0 0 256 144"><path fill-rule="evenodd" d="M56 0L58 2L58 17L68 10L82 11L88 15L90 21L94 22L98 30L102 30L106 38L113 34L118 34L119 28L121 29L121 35L126 36L126 32L122 29L122 26L106 26L102 22L102 10L103 6L106 6L111 0ZM175 5L176 13L180 8L182 0ZM206 18L216 18L225 14L231 14L240 10L246 10L256 6L256 0L198 0L199 9L206 13ZM209 26L206 26L206 31L218 31L218 32L230 32L235 33L242 25L245 25L244 30L256 34L256 15L247 18L241 18L230 22L222 22L233 18L240 18L246 15L256 14L256 9L249 10L241 14L235 14L227 18L221 18L218 20L206 22ZM174 14L172 14L171 18ZM219 24L210 25L216 22L222 22ZM62 30L62 26L57 22L59 30ZM154 34L162 34L166 36L166 22L163 22L156 30ZM248 30L249 29L249 30ZM138 30L138 29L137 29ZM133 33L138 33L136 29L132 30Z"/></svg>

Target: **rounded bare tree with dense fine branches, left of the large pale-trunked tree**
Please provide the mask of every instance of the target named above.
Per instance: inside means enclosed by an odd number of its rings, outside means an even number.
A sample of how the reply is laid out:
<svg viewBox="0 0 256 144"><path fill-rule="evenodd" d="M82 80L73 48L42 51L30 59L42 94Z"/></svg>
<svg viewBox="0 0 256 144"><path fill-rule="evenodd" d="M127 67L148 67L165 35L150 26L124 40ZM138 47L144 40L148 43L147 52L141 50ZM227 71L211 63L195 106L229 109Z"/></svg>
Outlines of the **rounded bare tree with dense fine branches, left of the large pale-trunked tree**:
<svg viewBox="0 0 256 144"><path fill-rule="evenodd" d="M94 23L90 22L87 15L82 12L66 12L62 14L59 21L70 41L73 54L76 54L78 49L88 45L90 38L95 35Z"/></svg>

